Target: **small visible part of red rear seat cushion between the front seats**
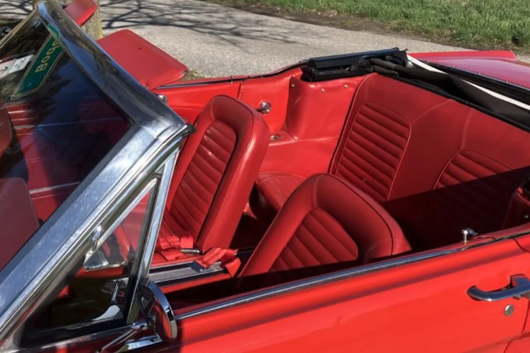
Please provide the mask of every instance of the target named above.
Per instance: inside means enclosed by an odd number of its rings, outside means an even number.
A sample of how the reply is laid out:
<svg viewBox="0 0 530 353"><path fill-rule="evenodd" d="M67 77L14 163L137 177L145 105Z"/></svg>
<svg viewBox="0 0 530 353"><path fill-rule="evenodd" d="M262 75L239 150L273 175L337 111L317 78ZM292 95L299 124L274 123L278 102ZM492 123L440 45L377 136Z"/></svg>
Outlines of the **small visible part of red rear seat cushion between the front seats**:
<svg viewBox="0 0 530 353"><path fill-rule="evenodd" d="M260 202L278 212L304 180L304 177L289 173L259 174L256 184Z"/></svg>

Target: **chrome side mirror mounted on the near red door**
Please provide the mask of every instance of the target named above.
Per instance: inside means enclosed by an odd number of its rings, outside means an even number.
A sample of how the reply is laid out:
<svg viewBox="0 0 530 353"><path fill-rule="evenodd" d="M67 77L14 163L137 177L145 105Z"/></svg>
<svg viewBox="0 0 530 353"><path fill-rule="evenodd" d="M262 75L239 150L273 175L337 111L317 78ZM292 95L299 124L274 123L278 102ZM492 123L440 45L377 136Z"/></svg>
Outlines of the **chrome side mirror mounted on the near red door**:
<svg viewBox="0 0 530 353"><path fill-rule="evenodd" d="M98 352L121 352L127 350L128 340L138 333L151 328L160 337L162 342L168 342L177 338L177 321L160 287L151 280L142 280L136 289L136 299L140 304L143 319L131 325L131 328L112 342L99 349ZM151 342L151 341L149 341ZM141 347L141 342L135 342L136 348ZM148 343L148 342L146 342Z"/></svg>

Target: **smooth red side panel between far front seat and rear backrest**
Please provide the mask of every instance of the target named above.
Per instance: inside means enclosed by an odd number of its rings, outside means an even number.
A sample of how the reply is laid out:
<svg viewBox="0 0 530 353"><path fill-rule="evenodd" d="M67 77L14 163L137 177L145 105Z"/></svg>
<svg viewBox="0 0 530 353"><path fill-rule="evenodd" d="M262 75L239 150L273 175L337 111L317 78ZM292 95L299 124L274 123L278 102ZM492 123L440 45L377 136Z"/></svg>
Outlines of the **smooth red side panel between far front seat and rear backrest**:
<svg viewBox="0 0 530 353"><path fill-rule="evenodd" d="M327 172L353 94L363 80L307 83L291 78L285 126L269 143L258 183L266 182L271 172L298 177Z"/></svg>

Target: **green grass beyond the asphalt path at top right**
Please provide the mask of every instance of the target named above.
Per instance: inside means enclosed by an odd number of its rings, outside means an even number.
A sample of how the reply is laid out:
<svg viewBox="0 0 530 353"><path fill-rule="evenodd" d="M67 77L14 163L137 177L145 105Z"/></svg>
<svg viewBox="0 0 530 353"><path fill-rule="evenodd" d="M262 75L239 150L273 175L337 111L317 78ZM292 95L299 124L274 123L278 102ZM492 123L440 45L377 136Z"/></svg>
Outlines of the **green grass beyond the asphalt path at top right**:
<svg viewBox="0 0 530 353"><path fill-rule="evenodd" d="M529 0L214 0L366 18L384 29L472 48L530 52Z"/></svg>

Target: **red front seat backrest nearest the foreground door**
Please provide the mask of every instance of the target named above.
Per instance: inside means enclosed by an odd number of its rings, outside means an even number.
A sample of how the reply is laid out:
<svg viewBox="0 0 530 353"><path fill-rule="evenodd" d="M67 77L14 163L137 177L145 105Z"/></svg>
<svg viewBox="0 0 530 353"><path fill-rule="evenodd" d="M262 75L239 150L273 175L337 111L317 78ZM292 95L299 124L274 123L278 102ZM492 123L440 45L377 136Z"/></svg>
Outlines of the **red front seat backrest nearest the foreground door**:
<svg viewBox="0 0 530 353"><path fill-rule="evenodd" d="M317 174L296 189L240 276L370 263L411 250L397 222L360 189Z"/></svg>

